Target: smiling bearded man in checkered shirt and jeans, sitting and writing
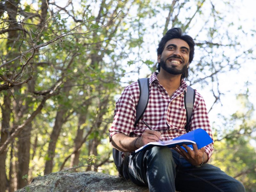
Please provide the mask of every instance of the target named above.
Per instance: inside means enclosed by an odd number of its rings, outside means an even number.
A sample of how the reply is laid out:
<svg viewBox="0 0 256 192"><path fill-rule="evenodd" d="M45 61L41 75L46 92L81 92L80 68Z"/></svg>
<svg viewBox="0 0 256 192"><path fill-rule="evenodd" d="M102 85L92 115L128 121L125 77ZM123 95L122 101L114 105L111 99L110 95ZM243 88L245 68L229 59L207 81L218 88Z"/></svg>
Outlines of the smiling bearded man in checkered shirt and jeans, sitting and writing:
<svg viewBox="0 0 256 192"><path fill-rule="evenodd" d="M194 150L183 145L169 149L154 146L138 153L141 146L159 140L171 140L186 133L184 92L188 67L194 57L194 40L172 28L161 39L157 49L158 73L149 79L148 106L134 126L140 96L138 82L127 86L116 102L110 132L113 148L130 152L124 164L126 179L148 186L150 192L244 192L244 186L219 168L207 164L213 144ZM145 121L152 130L142 122ZM207 109L202 96L195 90L189 130L204 129L212 138Z"/></svg>

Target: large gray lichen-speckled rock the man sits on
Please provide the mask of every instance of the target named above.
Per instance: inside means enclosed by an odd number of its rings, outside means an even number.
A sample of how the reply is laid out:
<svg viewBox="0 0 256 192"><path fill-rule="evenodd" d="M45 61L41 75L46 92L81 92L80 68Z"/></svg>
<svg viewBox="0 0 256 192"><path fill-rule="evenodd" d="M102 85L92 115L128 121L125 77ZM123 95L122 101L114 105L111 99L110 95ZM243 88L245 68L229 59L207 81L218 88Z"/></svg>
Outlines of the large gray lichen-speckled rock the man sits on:
<svg viewBox="0 0 256 192"><path fill-rule="evenodd" d="M98 172L54 172L34 178L16 192L148 192L130 180Z"/></svg>

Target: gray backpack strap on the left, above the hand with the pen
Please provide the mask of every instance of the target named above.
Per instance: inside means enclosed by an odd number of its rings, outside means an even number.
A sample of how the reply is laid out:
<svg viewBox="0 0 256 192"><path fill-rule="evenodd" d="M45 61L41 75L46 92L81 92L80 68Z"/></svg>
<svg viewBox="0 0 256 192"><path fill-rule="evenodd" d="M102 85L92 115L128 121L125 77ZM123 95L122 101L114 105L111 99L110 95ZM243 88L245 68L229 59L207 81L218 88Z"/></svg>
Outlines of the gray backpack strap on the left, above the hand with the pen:
<svg viewBox="0 0 256 192"><path fill-rule="evenodd" d="M136 120L134 123L134 127L136 127L138 121L144 114L147 108L148 99L149 99L149 78L138 79L138 83L140 87L140 98L136 108Z"/></svg>

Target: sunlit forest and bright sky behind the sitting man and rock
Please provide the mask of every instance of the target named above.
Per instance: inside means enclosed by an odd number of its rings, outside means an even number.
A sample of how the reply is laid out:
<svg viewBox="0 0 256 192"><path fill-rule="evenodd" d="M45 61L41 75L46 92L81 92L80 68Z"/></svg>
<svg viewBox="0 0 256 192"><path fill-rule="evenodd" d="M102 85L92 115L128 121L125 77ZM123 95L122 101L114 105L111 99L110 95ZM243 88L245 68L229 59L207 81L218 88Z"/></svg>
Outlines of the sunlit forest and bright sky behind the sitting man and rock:
<svg viewBox="0 0 256 192"><path fill-rule="evenodd" d="M253 6L254 4L254 6ZM255 1L0 1L0 191L51 172L116 175L108 128L124 86L156 69L167 29L195 39L210 161L256 191Z"/></svg>

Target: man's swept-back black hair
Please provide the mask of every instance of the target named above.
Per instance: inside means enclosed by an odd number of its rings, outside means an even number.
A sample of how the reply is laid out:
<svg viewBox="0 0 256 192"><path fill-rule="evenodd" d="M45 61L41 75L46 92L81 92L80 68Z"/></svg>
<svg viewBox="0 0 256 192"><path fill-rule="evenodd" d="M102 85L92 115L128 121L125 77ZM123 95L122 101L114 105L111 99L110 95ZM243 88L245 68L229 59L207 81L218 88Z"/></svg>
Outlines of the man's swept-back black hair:
<svg viewBox="0 0 256 192"><path fill-rule="evenodd" d="M160 43L158 44L158 48L156 50L157 56L162 55L162 52L164 51L164 46L165 46L166 42L169 41L170 39L181 39L188 44L188 46L189 46L188 63L191 63L191 61L194 58L194 54L195 54L195 42L191 36L187 35L186 33L182 33L182 30L180 28L172 28L166 32L166 34L162 37ZM156 69L158 71L160 71L159 63L157 65ZM188 77L188 68L185 71L185 73L183 73L181 75L182 79L187 78L187 77Z"/></svg>

